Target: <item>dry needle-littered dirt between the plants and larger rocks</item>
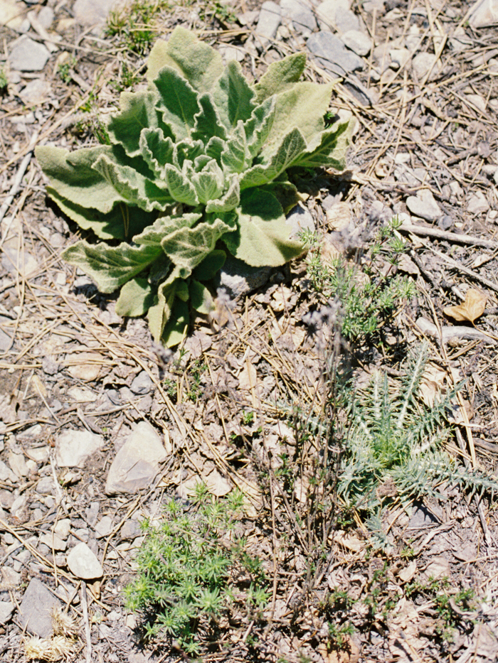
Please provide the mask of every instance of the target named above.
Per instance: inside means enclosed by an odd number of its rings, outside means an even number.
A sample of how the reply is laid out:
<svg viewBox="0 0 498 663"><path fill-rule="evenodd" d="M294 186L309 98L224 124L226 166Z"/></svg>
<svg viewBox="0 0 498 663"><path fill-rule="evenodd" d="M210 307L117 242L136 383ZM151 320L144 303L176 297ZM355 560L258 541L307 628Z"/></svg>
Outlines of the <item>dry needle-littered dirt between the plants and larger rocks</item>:
<svg viewBox="0 0 498 663"><path fill-rule="evenodd" d="M408 348L425 338L435 389L465 380L450 452L496 476L496 26L472 28L467 2L352 5L376 46L358 74L372 103L362 103L344 81L337 85L334 111L356 118L348 168L309 182L306 206L319 232L357 261L379 226L394 215L403 220L397 232L408 251L398 271L413 280L416 296L392 316L382 343L337 346L326 330L325 336L310 333L303 318L321 304L301 259L274 270L265 286L232 308L222 307L220 324L216 316L215 323L196 320L181 350L164 363L146 320L117 316L115 296L99 293L60 259L80 231L46 197L33 147L96 144L118 93L142 81L154 39L176 25L198 31L216 48L235 45L245 72L256 78L268 63L305 47L291 26L263 52L249 48L260 5L157 5L148 19L152 38L140 45L133 31L102 33L79 24L72 0L48 0L49 32L58 41L44 40L33 21L29 32L51 50L42 72L9 68L19 32L0 27L7 82L0 91L0 205L7 203L0 239L0 661L26 660L19 609L33 578L78 622L71 662L188 660L167 638L144 645L137 618L124 610L122 589L133 578L142 538L123 528L131 532L171 496L188 499L198 480L216 496L235 487L243 492L245 537L270 588L261 613L219 625L203 660L498 658L498 532L489 495L480 499L445 486L444 494L414 502L410 517L393 507L383 518L388 549L378 549L359 517L340 521L340 501L329 523L319 522L302 488L309 459L317 456L312 439L297 453L299 417L330 414L324 408L327 357L347 364L360 380L376 369L396 379ZM17 6L36 13L43 3ZM253 12L249 23L237 18L243 12ZM401 45L406 36L413 37L411 50ZM382 49L391 62L384 70ZM419 78L411 63L420 53L437 57ZM313 58L306 76L335 78ZM26 96L26 85L42 79L43 88ZM416 211L426 194L429 207L439 209L432 219L427 206ZM469 289L485 296L484 314L473 319L467 312L460 322L445 315ZM132 392L137 376L152 387ZM341 420L340 411L332 414ZM109 497L110 464L142 421L159 433L167 458L149 489ZM346 430L344 421L341 426ZM58 463L58 439L68 430L102 438L81 467ZM277 462L284 453L300 463L290 472L290 497ZM333 494L333 482L327 490ZM99 530L105 517L110 525ZM41 539L62 521L69 522L66 546L48 546ZM103 568L99 581L85 582L67 564L80 541ZM464 605L455 597L466 591L472 600Z"/></svg>

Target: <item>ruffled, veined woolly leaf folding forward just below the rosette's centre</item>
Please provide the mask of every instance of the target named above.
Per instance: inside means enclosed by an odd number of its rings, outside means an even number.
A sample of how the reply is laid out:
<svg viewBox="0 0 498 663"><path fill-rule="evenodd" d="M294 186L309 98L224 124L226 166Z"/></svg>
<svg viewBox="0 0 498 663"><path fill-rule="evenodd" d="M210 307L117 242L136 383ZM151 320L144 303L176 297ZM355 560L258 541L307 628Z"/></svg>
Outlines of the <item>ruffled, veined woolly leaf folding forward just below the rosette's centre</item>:
<svg viewBox="0 0 498 663"><path fill-rule="evenodd" d="M180 228L172 232L162 240L161 247L171 262L190 274L213 251L218 239L233 229L233 225L221 219L212 223L203 222L194 228Z"/></svg>

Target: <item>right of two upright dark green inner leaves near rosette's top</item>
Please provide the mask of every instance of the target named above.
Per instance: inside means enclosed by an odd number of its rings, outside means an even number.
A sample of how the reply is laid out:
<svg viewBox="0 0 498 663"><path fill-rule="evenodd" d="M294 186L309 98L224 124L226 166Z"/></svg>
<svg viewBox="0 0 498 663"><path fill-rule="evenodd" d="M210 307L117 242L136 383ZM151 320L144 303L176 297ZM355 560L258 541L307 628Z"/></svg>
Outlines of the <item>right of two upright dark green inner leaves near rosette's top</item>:
<svg viewBox="0 0 498 663"><path fill-rule="evenodd" d="M245 122L256 107L254 91L242 73L240 64L231 60L213 88L213 97L221 122L227 129Z"/></svg>

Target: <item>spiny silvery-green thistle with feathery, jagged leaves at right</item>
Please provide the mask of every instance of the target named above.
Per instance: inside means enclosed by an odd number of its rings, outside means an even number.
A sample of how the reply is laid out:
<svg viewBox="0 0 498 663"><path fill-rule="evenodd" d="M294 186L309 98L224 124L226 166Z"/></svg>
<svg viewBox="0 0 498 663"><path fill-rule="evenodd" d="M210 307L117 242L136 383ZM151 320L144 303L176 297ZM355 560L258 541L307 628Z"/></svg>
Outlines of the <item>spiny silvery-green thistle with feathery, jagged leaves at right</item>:
<svg viewBox="0 0 498 663"><path fill-rule="evenodd" d="M410 502L424 496L443 499L438 485L494 495L498 482L457 464L443 446L450 436L447 411L454 392L427 407L418 398L427 364L427 345L418 347L403 367L405 377L390 388L376 372L369 387L354 397L337 492L346 507L366 515L378 547L386 547L383 508L394 501L410 512Z"/></svg>

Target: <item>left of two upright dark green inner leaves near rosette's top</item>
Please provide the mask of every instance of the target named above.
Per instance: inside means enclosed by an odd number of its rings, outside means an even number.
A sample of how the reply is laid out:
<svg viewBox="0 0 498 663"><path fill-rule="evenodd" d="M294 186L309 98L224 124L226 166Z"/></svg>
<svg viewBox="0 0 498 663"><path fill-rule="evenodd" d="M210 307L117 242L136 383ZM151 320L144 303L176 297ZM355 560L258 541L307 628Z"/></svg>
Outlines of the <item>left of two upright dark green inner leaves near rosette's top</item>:
<svg viewBox="0 0 498 663"><path fill-rule="evenodd" d="M154 85L159 92L157 108L162 112L165 124L171 126L177 140L190 136L195 117L199 112L198 95L184 77L174 69L164 67Z"/></svg>

